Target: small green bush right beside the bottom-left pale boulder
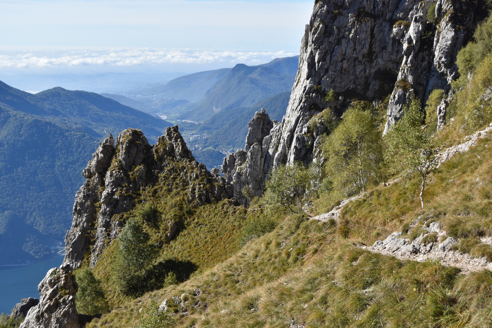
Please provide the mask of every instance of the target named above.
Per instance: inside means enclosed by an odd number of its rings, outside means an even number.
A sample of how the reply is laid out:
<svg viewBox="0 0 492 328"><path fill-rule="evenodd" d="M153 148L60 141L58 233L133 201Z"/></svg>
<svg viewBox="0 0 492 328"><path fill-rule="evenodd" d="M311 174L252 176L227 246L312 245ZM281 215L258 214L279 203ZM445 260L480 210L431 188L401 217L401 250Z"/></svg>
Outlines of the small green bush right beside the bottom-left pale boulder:
<svg viewBox="0 0 492 328"><path fill-rule="evenodd" d="M101 281L94 276L91 269L78 269L75 272L75 279L79 285L75 298L78 313L96 315L109 311Z"/></svg>

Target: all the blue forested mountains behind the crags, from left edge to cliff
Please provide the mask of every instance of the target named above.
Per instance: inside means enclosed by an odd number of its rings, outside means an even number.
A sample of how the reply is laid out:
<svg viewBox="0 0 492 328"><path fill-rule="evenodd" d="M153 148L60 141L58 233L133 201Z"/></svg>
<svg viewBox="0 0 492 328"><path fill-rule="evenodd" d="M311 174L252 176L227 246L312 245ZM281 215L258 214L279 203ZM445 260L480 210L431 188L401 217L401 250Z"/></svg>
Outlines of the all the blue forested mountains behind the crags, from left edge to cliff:
<svg viewBox="0 0 492 328"><path fill-rule="evenodd" d="M62 87L31 94L0 82L0 265L57 251L82 169L103 137L137 128L152 143L178 123L195 158L210 169L224 152L244 146L256 110L281 119L297 65L288 57L199 72L133 98ZM155 115L162 112L174 120Z"/></svg>

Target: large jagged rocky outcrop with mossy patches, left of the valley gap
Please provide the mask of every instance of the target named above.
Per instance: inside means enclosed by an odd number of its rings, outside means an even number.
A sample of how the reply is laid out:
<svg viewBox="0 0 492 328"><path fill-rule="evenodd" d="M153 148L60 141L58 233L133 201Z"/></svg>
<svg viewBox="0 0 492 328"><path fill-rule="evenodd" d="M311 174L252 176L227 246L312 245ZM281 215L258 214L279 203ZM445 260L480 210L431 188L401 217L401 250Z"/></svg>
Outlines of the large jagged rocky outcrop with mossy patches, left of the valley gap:
<svg viewBox="0 0 492 328"><path fill-rule="evenodd" d="M228 196L223 178L195 161L178 126L167 128L154 146L140 130L127 129L116 142L112 136L104 139L92 157L82 173L86 181L75 196L72 227L65 237L63 263L73 268L86 256L92 267L96 264L123 227L120 215L131 210L140 191L154 186L161 174L176 171L177 163L184 164L180 187L187 186L191 205ZM170 190L175 188L169 183Z"/></svg>

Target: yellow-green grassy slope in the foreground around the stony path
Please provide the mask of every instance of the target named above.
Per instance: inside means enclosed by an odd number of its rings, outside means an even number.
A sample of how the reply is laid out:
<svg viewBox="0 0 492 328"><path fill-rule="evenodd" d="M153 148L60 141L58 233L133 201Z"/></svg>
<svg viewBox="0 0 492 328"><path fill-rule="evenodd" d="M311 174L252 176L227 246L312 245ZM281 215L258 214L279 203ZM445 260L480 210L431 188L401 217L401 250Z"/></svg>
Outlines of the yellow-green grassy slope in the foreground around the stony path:
<svg viewBox="0 0 492 328"><path fill-rule="evenodd" d="M179 327L486 327L491 272L461 275L438 262L400 261L353 245L430 215L457 237L489 235L476 228L488 226L492 209L490 142L432 175L424 210L418 181L409 180L369 191L344 208L337 225L287 217L206 273L128 301L88 327L131 327L152 298L168 299ZM183 294L184 307L171 299Z"/></svg>

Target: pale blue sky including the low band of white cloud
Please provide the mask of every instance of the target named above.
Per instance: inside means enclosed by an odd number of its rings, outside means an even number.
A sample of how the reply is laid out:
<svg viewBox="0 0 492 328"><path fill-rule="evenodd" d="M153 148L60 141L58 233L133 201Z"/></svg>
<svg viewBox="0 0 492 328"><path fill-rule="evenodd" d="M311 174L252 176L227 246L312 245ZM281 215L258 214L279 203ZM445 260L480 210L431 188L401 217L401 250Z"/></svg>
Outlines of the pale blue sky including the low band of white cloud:
<svg viewBox="0 0 492 328"><path fill-rule="evenodd" d="M314 0L0 0L0 72L184 71L297 55Z"/></svg>

